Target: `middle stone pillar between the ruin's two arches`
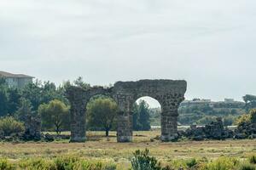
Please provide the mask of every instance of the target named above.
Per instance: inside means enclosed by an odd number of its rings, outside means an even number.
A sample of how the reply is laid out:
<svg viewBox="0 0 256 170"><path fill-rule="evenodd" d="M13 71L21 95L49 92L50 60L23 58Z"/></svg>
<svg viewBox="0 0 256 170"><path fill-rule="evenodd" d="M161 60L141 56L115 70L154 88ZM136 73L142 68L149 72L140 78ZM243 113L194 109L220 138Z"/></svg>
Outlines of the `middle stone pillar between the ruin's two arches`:
<svg viewBox="0 0 256 170"><path fill-rule="evenodd" d="M118 115L117 141L132 141L132 113L121 111Z"/></svg>

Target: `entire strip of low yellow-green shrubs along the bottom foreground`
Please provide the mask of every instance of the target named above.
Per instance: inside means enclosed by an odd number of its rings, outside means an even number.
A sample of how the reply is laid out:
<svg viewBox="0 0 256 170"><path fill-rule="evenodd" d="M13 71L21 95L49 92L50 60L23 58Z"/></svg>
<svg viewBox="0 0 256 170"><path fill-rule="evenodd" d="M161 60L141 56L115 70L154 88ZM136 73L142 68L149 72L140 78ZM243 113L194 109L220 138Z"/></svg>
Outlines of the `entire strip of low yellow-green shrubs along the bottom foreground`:
<svg viewBox="0 0 256 170"><path fill-rule="evenodd" d="M28 158L8 161L0 158L0 170L115 170L111 162L88 161L78 156L60 156L53 159ZM128 169L128 167L126 168ZM256 156L246 160L221 156L212 161L207 158L173 160L161 164L148 150L137 150L131 158L131 170L256 170Z"/></svg>

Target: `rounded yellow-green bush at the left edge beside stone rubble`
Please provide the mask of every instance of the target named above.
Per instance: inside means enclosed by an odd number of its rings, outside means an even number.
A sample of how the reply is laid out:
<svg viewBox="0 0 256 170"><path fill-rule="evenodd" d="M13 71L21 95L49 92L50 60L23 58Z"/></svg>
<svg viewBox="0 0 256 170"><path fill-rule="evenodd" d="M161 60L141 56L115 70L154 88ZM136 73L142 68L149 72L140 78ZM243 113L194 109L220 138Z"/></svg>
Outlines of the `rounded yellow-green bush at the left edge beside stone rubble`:
<svg viewBox="0 0 256 170"><path fill-rule="evenodd" d="M25 127L22 122L17 121L12 116L6 116L0 119L0 132L3 131L4 136L11 134L23 133Z"/></svg>

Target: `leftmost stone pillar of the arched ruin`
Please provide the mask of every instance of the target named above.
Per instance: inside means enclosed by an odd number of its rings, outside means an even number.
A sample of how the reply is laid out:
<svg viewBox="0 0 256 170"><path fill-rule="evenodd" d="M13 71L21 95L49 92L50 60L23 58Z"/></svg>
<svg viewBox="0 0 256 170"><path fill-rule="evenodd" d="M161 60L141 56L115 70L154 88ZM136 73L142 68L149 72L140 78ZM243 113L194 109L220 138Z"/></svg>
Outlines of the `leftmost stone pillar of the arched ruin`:
<svg viewBox="0 0 256 170"><path fill-rule="evenodd" d="M85 134L85 106L84 102L77 101L71 104L71 139L70 142L84 142L86 139Z"/></svg>

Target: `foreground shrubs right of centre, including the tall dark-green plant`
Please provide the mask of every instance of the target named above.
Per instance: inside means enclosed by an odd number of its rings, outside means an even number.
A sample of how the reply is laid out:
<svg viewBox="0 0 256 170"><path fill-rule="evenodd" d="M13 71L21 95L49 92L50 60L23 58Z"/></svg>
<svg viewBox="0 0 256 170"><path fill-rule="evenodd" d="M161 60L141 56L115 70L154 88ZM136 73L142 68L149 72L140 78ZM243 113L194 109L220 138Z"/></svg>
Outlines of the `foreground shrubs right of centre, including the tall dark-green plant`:
<svg viewBox="0 0 256 170"><path fill-rule="evenodd" d="M131 160L132 170L256 170L256 156L249 156L247 160L221 156L208 161L207 158L196 160L175 160L161 165L148 150L137 150Z"/></svg>

